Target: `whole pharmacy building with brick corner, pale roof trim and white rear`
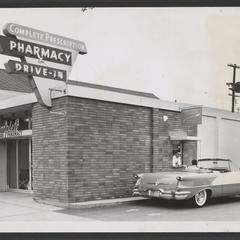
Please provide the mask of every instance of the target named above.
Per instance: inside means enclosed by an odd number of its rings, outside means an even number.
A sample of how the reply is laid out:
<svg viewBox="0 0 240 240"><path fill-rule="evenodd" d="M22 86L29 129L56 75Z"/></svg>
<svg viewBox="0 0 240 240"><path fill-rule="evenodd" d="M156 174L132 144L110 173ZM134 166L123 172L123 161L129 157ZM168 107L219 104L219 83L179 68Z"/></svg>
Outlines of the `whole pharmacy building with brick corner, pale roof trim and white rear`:
<svg viewBox="0 0 240 240"><path fill-rule="evenodd" d="M132 196L133 176L203 157L237 162L240 114L68 80L38 103L27 77L0 70L0 191L69 205Z"/></svg>

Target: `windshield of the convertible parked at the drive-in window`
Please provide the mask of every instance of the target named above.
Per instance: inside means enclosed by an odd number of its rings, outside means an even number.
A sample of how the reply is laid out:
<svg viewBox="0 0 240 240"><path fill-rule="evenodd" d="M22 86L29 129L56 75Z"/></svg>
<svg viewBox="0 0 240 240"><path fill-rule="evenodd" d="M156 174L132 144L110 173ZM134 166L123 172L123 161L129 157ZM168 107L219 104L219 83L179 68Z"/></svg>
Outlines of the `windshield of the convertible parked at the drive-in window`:
<svg viewBox="0 0 240 240"><path fill-rule="evenodd" d="M227 159L200 159L198 167L215 171L231 171L230 160Z"/></svg>

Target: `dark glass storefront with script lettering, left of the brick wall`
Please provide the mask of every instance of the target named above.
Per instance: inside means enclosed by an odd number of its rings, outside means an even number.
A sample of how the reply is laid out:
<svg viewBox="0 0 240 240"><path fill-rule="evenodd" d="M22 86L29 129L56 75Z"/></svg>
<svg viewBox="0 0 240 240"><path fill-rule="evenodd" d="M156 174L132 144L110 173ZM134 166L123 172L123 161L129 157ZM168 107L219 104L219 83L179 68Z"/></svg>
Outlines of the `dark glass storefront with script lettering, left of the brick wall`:
<svg viewBox="0 0 240 240"><path fill-rule="evenodd" d="M11 189L32 189L32 122L29 111L0 116L0 139L6 141L7 185Z"/></svg>

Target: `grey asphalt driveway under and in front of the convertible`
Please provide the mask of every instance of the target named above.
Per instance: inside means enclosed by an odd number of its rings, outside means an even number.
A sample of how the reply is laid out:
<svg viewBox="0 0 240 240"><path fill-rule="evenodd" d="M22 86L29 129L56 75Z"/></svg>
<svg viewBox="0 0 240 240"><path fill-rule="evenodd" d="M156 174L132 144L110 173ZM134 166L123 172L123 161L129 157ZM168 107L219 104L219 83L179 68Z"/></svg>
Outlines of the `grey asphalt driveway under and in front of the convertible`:
<svg viewBox="0 0 240 240"><path fill-rule="evenodd" d="M192 208L185 201L145 199L57 212L97 221L240 221L240 197L212 199L202 208Z"/></svg>

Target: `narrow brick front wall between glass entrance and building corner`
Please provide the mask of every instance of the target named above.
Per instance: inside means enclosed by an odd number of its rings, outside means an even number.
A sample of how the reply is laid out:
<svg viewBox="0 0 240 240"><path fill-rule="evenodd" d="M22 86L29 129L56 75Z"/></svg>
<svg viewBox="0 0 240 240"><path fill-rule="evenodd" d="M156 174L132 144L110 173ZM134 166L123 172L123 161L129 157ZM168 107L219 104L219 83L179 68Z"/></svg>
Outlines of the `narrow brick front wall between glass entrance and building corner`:
<svg viewBox="0 0 240 240"><path fill-rule="evenodd" d="M32 110L34 198L68 202L66 97L53 101L51 112L36 103ZM59 113L58 113L59 112Z"/></svg>

